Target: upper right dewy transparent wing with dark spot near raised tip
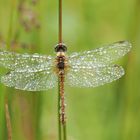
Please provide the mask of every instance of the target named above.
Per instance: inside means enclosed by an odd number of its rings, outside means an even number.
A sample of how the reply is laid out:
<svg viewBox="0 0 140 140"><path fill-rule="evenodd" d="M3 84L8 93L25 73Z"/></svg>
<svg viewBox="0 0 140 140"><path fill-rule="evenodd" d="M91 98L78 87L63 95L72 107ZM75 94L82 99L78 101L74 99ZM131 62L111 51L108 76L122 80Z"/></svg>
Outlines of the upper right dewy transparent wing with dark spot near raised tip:
<svg viewBox="0 0 140 140"><path fill-rule="evenodd" d="M120 41L91 51L73 53L69 56L68 62L70 66L79 66L80 64L80 66L102 67L124 56L130 49L131 44L128 41Z"/></svg>

